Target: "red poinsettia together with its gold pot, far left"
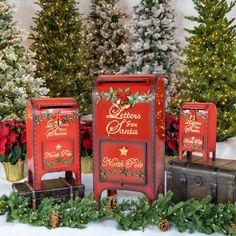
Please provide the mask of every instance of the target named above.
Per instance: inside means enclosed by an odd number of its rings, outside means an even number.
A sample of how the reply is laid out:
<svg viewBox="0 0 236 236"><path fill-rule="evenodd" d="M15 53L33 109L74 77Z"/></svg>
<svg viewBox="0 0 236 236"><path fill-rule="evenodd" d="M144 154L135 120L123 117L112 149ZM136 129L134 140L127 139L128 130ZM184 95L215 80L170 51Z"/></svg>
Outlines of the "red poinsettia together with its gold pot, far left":
<svg viewBox="0 0 236 236"><path fill-rule="evenodd" d="M26 126L22 121L0 121L0 162L7 180L24 178Z"/></svg>

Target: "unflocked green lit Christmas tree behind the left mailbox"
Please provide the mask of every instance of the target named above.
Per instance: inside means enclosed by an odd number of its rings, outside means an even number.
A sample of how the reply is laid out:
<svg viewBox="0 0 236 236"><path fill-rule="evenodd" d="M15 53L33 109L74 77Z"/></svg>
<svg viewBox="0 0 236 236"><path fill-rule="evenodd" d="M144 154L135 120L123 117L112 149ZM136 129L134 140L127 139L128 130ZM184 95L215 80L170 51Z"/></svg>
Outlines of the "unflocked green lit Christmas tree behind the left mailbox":
<svg viewBox="0 0 236 236"><path fill-rule="evenodd" d="M92 79L81 36L81 16L75 0L39 0L32 27L37 75L46 80L51 97L76 97L80 110L91 109Z"/></svg>

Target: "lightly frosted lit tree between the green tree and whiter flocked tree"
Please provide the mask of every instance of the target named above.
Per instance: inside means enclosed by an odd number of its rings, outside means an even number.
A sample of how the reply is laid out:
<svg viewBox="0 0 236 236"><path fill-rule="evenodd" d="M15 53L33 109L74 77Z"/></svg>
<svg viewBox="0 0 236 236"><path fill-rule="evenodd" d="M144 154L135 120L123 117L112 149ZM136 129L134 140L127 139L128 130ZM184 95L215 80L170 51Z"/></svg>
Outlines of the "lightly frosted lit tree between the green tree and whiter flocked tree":
<svg viewBox="0 0 236 236"><path fill-rule="evenodd" d="M127 33L118 0L92 0L85 38L90 46L91 75L114 74L126 62L123 46Z"/></svg>

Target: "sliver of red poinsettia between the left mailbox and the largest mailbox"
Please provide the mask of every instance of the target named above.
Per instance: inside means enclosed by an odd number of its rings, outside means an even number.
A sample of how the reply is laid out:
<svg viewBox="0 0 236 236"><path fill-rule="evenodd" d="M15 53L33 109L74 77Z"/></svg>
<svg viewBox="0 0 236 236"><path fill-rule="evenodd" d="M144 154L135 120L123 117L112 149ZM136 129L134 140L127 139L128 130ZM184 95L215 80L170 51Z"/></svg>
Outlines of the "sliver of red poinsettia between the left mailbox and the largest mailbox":
<svg viewBox="0 0 236 236"><path fill-rule="evenodd" d="M83 121L80 125L81 156L92 157L92 121Z"/></svg>

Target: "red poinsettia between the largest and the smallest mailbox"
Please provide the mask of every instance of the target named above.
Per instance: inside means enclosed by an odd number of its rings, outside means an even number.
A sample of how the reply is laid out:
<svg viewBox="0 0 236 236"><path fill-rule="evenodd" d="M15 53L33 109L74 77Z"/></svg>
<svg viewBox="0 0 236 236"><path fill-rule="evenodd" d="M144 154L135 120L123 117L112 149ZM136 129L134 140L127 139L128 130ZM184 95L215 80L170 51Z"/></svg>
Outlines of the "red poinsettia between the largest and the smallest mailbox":
<svg viewBox="0 0 236 236"><path fill-rule="evenodd" d="M166 114L165 155L176 156L179 151L179 118Z"/></svg>

